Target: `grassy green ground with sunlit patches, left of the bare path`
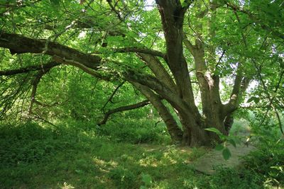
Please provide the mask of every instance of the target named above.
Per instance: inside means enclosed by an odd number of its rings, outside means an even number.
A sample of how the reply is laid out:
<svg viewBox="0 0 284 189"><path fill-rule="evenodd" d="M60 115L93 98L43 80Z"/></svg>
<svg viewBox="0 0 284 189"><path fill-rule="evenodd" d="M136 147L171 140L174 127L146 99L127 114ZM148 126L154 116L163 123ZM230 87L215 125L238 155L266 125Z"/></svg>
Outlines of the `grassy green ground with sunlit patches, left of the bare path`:
<svg viewBox="0 0 284 189"><path fill-rule="evenodd" d="M206 149L175 147L167 135L133 144L81 126L2 125L0 188L262 188L234 170L195 172L190 162Z"/></svg>

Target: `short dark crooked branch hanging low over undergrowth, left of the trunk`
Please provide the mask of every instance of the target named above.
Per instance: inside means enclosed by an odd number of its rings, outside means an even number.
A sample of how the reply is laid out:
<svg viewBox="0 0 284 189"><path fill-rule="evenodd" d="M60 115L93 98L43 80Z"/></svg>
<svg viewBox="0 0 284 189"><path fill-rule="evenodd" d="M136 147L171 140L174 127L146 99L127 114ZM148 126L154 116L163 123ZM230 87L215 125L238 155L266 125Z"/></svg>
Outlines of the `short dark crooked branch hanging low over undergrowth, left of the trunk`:
<svg viewBox="0 0 284 189"><path fill-rule="evenodd" d="M104 119L99 122L97 125L104 125L106 124L109 116L111 114L114 114L114 113L119 113L119 112L123 112L123 111L126 111L126 110L133 110L133 109L137 109L137 108L141 108L145 105L148 105L150 102L148 100L146 101L142 101L140 103L135 103L135 104L132 104L132 105L125 105L125 106L121 106L119 108L114 108L113 110L109 110L105 115L104 115Z"/></svg>

